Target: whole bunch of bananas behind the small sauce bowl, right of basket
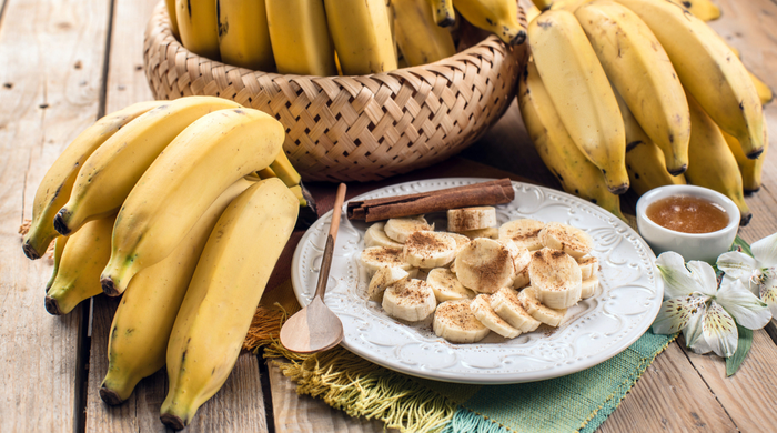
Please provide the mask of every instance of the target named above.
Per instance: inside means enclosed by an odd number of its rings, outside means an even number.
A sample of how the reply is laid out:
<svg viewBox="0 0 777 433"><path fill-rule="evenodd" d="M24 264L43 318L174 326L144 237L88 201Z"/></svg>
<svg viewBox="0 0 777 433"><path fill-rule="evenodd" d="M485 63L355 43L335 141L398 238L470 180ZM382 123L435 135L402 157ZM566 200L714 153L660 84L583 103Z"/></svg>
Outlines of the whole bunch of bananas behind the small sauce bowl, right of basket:
<svg viewBox="0 0 777 433"><path fill-rule="evenodd" d="M705 17L717 17L693 2ZM685 4L685 2L683 2ZM556 0L529 11L526 129L563 188L623 218L618 194L693 183L751 213L771 91L680 3ZM702 13L702 12L699 12Z"/></svg>

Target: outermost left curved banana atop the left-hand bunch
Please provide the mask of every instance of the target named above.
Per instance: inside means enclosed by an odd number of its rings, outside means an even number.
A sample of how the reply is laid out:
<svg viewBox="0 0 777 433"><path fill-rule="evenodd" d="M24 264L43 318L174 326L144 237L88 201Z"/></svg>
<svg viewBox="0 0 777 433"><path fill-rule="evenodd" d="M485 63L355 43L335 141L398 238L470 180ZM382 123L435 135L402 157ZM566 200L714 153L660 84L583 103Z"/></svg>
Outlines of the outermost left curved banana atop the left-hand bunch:
<svg viewBox="0 0 777 433"><path fill-rule="evenodd" d="M54 215L70 199L70 191L79 170L92 152L123 125L161 103L161 101L140 102L110 113L81 132L64 149L46 173L36 192L30 231L22 241L24 255L32 260L40 259L51 241L59 236L54 230Z"/></svg>

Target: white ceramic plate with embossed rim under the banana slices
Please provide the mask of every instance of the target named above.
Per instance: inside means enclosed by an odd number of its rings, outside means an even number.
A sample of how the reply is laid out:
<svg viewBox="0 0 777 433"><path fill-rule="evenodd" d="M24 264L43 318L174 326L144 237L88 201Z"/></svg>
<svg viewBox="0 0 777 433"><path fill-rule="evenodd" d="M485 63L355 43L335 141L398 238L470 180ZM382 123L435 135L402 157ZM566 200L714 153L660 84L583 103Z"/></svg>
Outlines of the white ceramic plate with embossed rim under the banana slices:
<svg viewBox="0 0 777 433"><path fill-rule="evenodd" d="M354 200L460 187L487 179L453 178L402 183ZM366 272L359 264L369 224L349 221L345 208L334 249L324 302L343 322L343 346L376 364L414 376L460 383L532 382L578 372L618 354L653 323L664 295L655 255L643 239L610 213L548 188L513 182L515 200L497 207L500 224L519 218L564 222L587 231L599 259L596 294L569 308L558 329L505 340L491 333L476 344L452 344L432 331L431 319L408 324L387 316L369 301ZM292 262L297 301L313 296L332 212L302 236ZM445 214L430 214L440 229Z"/></svg>

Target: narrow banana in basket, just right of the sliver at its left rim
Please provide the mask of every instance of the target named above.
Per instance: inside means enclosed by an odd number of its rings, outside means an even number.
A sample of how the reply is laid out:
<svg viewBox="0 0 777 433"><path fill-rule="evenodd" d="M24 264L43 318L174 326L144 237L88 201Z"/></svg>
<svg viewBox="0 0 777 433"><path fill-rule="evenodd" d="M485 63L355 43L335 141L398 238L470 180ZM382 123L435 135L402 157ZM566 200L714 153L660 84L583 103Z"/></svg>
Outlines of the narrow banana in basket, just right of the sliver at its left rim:
<svg viewBox="0 0 777 433"><path fill-rule="evenodd" d="M189 51L219 60L219 19L213 0L175 0L181 43Z"/></svg>

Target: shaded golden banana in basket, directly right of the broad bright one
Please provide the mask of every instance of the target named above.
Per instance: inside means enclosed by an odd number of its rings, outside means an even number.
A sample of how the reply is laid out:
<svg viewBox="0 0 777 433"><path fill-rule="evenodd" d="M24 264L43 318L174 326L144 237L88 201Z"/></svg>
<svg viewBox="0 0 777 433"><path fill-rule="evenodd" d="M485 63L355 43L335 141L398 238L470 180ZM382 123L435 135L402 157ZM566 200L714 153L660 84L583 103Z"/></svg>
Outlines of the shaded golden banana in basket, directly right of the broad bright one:
<svg viewBox="0 0 777 433"><path fill-rule="evenodd" d="M428 0L393 0L396 43L411 67L433 63L456 53L453 37L434 23Z"/></svg>

